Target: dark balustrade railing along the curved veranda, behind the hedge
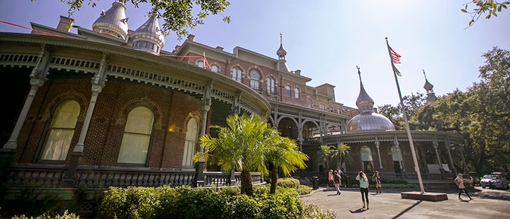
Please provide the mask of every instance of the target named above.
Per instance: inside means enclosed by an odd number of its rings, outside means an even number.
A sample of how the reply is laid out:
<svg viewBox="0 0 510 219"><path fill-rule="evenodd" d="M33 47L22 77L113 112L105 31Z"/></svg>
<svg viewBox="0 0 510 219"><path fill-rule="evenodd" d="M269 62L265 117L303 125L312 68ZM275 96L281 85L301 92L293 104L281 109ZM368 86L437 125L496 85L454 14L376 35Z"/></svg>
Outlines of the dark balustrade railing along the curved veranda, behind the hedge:
<svg viewBox="0 0 510 219"><path fill-rule="evenodd" d="M12 164L7 167L6 184L8 187L38 185L41 187L60 187L65 175L64 165ZM87 187L171 187L192 186L195 171L152 170L139 167L92 167L80 166L77 170L75 186ZM240 173L234 174L236 184L240 184ZM253 184L260 184L260 173L251 173ZM205 187L224 186L230 183L229 172L204 172Z"/></svg>

